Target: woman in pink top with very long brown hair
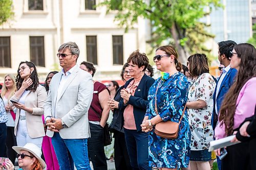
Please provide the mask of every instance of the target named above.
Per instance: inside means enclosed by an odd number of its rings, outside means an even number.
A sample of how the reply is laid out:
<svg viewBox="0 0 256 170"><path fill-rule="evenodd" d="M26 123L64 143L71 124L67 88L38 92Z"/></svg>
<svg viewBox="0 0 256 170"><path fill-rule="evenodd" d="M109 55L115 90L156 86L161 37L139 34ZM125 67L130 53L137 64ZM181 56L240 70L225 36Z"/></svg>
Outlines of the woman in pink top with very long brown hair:
<svg viewBox="0 0 256 170"><path fill-rule="evenodd" d="M256 104L256 50L248 43L234 46L230 67L238 70L237 78L225 95L219 124L215 129L216 139L236 133L246 117L254 114ZM250 169L248 142L227 147L227 156L222 160L222 169ZM216 150L220 155L220 150Z"/></svg>

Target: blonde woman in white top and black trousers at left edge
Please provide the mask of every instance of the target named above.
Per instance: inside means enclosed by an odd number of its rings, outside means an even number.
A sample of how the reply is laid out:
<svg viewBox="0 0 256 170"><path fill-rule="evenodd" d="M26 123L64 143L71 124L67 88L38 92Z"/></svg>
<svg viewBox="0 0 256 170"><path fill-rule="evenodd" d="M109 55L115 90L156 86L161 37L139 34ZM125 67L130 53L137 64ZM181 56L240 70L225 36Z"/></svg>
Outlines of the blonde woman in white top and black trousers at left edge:
<svg viewBox="0 0 256 170"><path fill-rule="evenodd" d="M12 149L16 145L15 135L14 135L14 120L16 108L9 105L9 100L11 96L16 91L15 78L11 74L5 75L5 82L2 88L1 96L4 101L5 111L7 114L8 122L7 126L7 138L6 138L6 147L7 147L7 156L14 164L16 153Z"/></svg>

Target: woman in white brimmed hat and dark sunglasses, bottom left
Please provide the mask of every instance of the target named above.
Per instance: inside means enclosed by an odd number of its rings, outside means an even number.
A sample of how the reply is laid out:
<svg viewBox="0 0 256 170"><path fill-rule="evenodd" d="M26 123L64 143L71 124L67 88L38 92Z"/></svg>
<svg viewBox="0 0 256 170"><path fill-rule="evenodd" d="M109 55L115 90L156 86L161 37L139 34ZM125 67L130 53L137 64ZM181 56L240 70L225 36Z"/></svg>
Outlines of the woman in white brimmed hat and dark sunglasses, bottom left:
<svg viewBox="0 0 256 170"><path fill-rule="evenodd" d="M12 147L16 151L18 158L18 170L42 170L46 167L46 163L41 158L41 149L33 143L27 143L24 147ZM0 166L0 170L14 170L14 165L9 159L6 159L5 165Z"/></svg>

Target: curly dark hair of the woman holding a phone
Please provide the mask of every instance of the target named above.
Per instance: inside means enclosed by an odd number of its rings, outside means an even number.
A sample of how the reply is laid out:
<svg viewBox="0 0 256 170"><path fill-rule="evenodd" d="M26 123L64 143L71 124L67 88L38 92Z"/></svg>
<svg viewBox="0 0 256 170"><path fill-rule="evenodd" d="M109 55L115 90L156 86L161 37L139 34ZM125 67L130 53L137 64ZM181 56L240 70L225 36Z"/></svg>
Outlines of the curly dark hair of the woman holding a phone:
<svg viewBox="0 0 256 170"><path fill-rule="evenodd" d="M31 78L33 84L31 86L29 86L26 90L31 90L31 91L35 92L37 86L39 85L39 80L38 80L38 75L37 75L37 70L36 70L35 64L32 63L31 61L22 61L22 62L19 63L18 67L20 65L24 64L24 63L27 66L29 66L29 68L34 68L34 71L30 75L30 78ZM17 76L16 76L16 79L15 79L17 90L19 90L20 87L22 87L23 81L24 81L24 79L22 79L22 77L20 77L19 69L18 69L17 70Z"/></svg>

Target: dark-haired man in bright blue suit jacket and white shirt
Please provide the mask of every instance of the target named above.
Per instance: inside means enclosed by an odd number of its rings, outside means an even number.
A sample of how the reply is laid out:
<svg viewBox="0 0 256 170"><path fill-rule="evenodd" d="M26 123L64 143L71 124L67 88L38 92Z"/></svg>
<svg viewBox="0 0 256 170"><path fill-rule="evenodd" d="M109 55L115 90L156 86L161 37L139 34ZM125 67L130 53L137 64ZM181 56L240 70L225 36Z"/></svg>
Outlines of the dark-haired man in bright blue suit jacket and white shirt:
<svg viewBox="0 0 256 170"><path fill-rule="evenodd" d="M219 51L218 51L218 59L220 64L224 65L223 72L218 79L216 84L216 88L214 91L214 109L212 111L211 117L211 125L212 128L215 129L218 122L218 114L221 108L222 101L225 97L225 94L233 84L234 77L237 75L237 70L234 68L230 68L230 57L232 55L232 50L234 45L237 43L234 41L221 41L218 43ZM218 167L221 169L221 161L218 160Z"/></svg>

